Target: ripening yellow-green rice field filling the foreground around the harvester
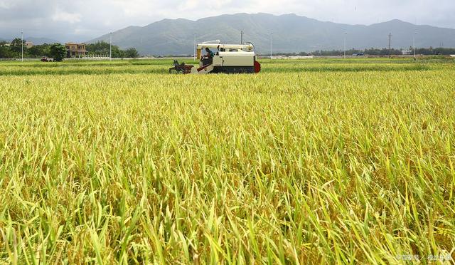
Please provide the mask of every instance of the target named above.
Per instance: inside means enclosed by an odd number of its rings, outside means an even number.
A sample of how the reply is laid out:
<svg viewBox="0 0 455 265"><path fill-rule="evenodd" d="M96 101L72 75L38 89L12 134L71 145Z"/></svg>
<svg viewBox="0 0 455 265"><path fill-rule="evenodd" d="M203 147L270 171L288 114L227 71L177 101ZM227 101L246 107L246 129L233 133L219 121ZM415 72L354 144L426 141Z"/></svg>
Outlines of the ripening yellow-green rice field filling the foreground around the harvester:
<svg viewBox="0 0 455 265"><path fill-rule="evenodd" d="M0 62L0 264L454 263L453 59L171 64Z"/></svg>

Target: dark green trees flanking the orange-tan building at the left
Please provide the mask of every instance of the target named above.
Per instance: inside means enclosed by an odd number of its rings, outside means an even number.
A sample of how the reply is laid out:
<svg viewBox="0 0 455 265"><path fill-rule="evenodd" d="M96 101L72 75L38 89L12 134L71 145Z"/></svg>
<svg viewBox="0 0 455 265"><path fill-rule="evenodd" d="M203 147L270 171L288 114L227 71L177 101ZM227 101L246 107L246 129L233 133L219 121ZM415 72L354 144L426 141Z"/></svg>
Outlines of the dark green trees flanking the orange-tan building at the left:
<svg viewBox="0 0 455 265"><path fill-rule="evenodd" d="M63 48L65 54L63 54ZM87 56L109 56L109 43L105 41L87 44ZM14 38L11 43L0 41L0 58L21 58L22 56L22 41L21 38ZM66 56L66 48L60 43L44 43L35 45L31 48L26 47L26 41L23 41L23 57L24 58L41 58L43 56L55 58ZM139 53L135 48L122 50L119 46L112 45L112 58L137 58Z"/></svg>

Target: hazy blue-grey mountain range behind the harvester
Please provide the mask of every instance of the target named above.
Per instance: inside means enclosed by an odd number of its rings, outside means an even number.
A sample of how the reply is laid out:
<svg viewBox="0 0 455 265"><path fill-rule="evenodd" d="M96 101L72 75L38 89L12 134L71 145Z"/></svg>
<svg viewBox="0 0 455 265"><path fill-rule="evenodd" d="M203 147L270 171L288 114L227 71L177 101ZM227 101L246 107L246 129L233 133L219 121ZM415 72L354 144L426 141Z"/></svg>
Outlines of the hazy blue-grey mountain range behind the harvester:
<svg viewBox="0 0 455 265"><path fill-rule="evenodd" d="M129 26L115 31L112 42L121 48L137 48L141 54L192 54L195 34L198 42L219 39L223 43L240 43L241 30L243 40L254 43L257 52L263 54L270 51L271 33L274 52L343 49L344 36L347 48L384 48L389 45L389 33L392 33L393 48L409 48L416 31L417 47L455 46L455 29L452 28L399 20L370 26L336 24L295 14L235 14L197 21L164 19L144 27ZM89 43L97 41L109 41L109 34Z"/></svg>

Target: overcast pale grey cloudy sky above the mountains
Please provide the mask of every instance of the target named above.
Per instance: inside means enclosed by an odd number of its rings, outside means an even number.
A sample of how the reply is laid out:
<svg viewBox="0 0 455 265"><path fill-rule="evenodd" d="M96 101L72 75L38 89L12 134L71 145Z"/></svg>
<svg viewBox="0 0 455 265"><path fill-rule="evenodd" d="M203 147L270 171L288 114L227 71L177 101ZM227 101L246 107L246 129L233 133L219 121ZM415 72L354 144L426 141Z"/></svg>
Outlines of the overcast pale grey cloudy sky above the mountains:
<svg viewBox="0 0 455 265"><path fill-rule="evenodd" d="M401 19L455 28L454 11L455 0L0 0L0 38L20 36L23 30L25 36L87 41L161 19L258 12L346 24Z"/></svg>

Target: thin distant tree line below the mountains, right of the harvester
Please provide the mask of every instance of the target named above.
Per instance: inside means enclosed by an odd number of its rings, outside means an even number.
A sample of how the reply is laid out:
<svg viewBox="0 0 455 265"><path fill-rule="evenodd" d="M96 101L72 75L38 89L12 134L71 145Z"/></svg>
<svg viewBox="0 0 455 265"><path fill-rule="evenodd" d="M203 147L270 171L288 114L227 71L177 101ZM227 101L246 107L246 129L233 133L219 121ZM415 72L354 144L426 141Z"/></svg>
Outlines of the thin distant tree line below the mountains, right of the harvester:
<svg viewBox="0 0 455 265"><path fill-rule="evenodd" d="M409 48L411 53L413 51L412 47ZM370 55L370 56L388 56L389 55L389 49L388 48L365 48L363 50L361 49L355 49L351 48L349 50L346 50L346 55L357 55L363 53L365 55ZM392 48L390 50L391 55L402 55L402 50L401 49L395 49ZM420 54L420 55L451 55L455 54L455 48L416 48L415 49L415 54ZM332 51L314 51L311 53L306 53L306 52L301 52L301 53L274 53L274 56L343 56L344 51L342 50L332 50Z"/></svg>

